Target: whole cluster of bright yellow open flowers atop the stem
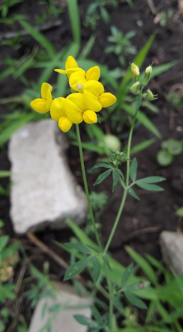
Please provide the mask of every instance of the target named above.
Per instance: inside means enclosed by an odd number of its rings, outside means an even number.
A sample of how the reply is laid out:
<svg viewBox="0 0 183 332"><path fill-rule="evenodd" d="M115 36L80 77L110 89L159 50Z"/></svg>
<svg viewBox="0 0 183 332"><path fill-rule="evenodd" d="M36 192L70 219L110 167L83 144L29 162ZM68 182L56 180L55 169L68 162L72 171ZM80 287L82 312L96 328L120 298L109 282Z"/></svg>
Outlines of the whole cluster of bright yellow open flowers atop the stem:
<svg viewBox="0 0 183 332"><path fill-rule="evenodd" d="M76 60L70 55L65 63L65 70L55 69L60 74L67 75L72 93L67 98L52 99L52 86L43 83L41 86L41 98L30 103L30 106L38 113L50 111L53 120L58 121L59 128L67 132L72 124L80 124L85 121L88 124L97 122L97 115L102 107L108 107L115 103L116 97L109 92L104 92L103 85L98 82L100 69L98 66L85 72L78 67Z"/></svg>

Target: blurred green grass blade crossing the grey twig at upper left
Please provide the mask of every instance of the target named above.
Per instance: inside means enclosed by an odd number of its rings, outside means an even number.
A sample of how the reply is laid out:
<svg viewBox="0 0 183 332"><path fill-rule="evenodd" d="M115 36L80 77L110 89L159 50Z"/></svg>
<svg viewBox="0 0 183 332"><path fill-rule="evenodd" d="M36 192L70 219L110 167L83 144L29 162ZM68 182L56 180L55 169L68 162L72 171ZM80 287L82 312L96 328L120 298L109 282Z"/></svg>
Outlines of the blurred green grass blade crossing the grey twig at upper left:
<svg viewBox="0 0 183 332"><path fill-rule="evenodd" d="M43 34L41 34L39 31L37 31L34 27L32 27L28 22L24 20L20 20L19 23L22 25L22 27L27 30L32 38L34 38L38 43L43 46L50 57L54 56L56 51L53 46L53 44L46 38L44 37Z"/></svg>

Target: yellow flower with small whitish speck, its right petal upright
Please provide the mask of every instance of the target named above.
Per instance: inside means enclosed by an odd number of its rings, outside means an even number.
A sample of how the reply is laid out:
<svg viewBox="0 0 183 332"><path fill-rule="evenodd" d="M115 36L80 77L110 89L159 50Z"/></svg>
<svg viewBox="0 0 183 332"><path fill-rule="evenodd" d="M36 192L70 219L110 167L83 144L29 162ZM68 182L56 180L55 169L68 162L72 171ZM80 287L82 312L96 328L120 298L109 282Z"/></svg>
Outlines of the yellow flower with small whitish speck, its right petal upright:
<svg viewBox="0 0 183 332"><path fill-rule="evenodd" d="M85 87L85 83L94 80L98 81L100 77L100 68L98 66L91 67L89 70L80 70L72 73L69 78L69 85L75 91L82 92Z"/></svg>

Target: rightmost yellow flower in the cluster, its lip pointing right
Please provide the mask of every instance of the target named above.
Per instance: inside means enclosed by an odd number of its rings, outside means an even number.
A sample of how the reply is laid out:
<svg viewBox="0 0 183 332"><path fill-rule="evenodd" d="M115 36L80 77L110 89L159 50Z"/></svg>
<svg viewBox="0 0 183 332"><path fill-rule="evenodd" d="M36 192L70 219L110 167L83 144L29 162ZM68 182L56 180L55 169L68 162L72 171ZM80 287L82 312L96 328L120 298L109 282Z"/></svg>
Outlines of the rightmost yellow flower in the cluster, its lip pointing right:
<svg viewBox="0 0 183 332"><path fill-rule="evenodd" d="M99 112L102 107L111 106L116 101L116 97L112 93L104 93L103 85L94 80L85 83L83 94L87 105L95 112Z"/></svg>

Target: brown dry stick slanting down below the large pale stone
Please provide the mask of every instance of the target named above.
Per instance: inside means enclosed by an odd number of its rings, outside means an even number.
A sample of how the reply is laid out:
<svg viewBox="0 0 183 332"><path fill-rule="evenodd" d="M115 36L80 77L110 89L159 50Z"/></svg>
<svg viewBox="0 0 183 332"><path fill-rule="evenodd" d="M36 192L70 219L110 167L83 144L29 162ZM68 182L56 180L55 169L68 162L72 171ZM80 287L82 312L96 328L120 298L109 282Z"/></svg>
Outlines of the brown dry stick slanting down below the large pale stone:
<svg viewBox="0 0 183 332"><path fill-rule="evenodd" d="M55 252L53 250L51 250L46 244L44 244L42 241L40 241L37 238L37 236L35 236L31 232L27 232L26 235L27 235L28 239L30 239L31 242L33 242L37 247L39 247L44 253L46 253L50 257L52 257L54 259L54 261L57 262L61 267L63 267L64 269L68 269L69 264L67 264L60 256L55 254ZM82 276L77 275L75 278L78 279L78 281L80 283L85 285L85 280Z"/></svg>

